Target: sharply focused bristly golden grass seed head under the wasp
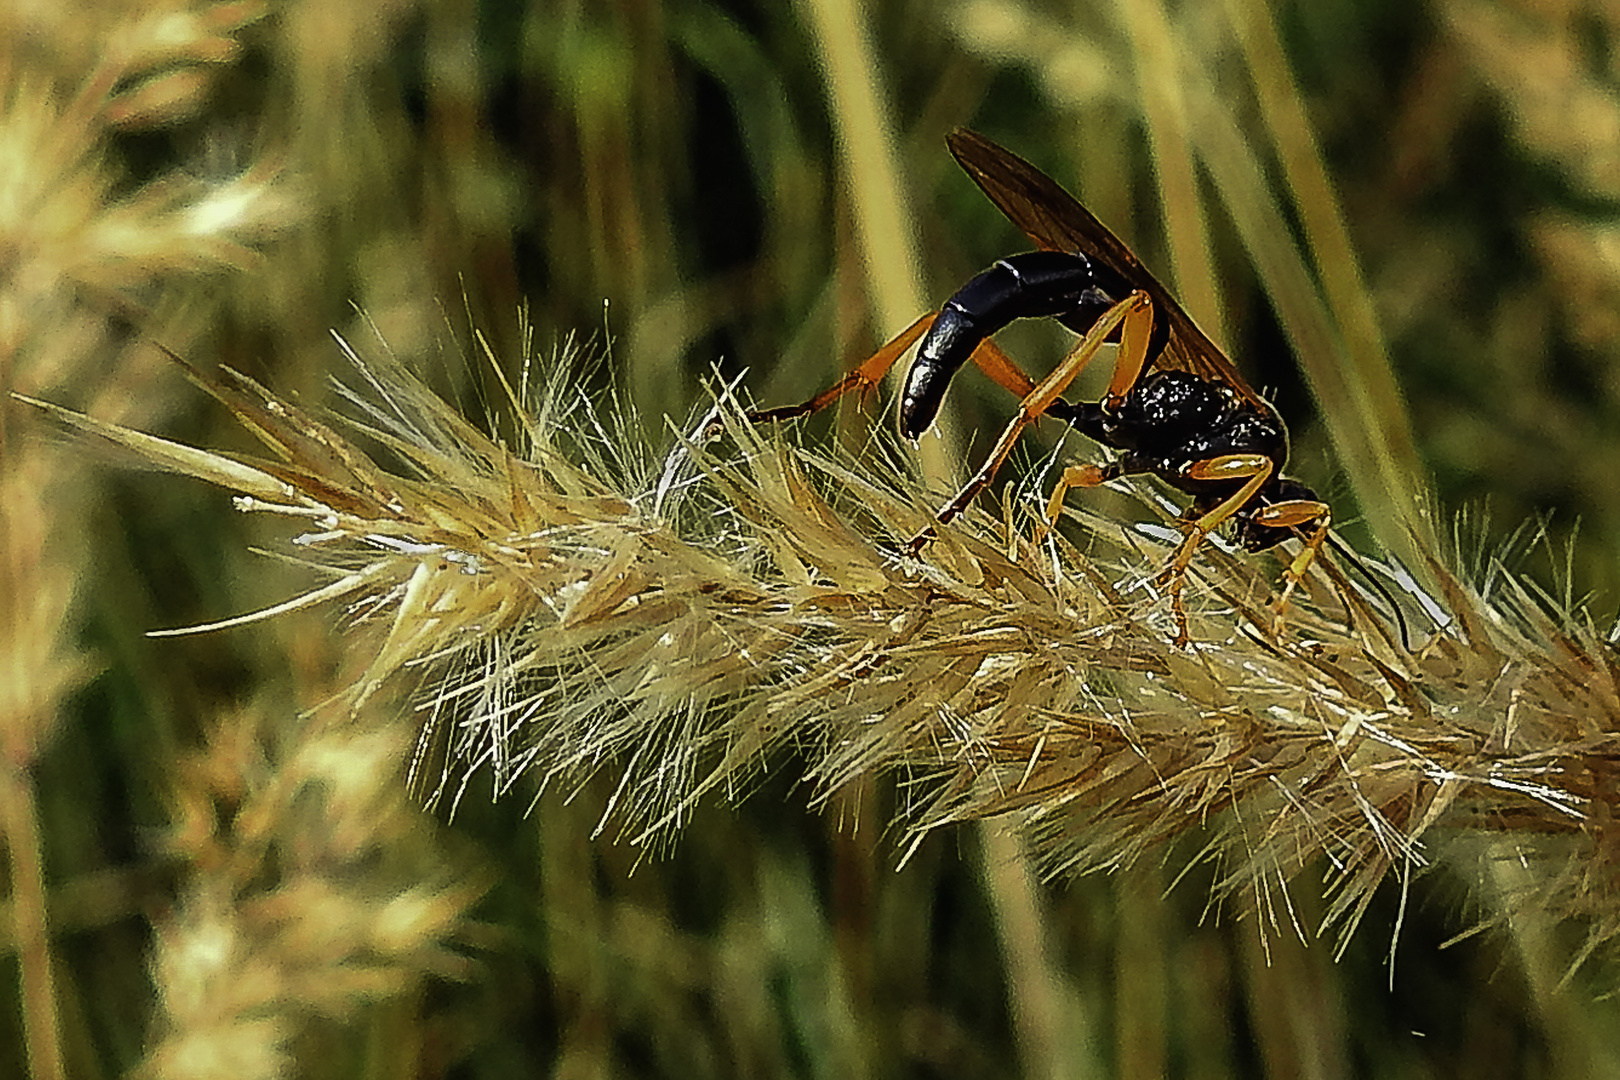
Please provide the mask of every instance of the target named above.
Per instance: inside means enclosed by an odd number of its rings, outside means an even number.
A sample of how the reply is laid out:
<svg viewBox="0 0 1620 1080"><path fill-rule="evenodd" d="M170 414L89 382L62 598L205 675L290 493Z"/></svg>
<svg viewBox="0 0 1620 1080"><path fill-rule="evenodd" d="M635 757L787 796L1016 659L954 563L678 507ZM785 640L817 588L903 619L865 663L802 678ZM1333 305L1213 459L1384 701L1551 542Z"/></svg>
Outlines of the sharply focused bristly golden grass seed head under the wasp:
<svg viewBox="0 0 1620 1080"><path fill-rule="evenodd" d="M915 834L1017 814L1059 873L1207 829L1200 858L1267 931L1319 929L1285 886L1322 860L1325 925L1348 931L1387 878L1479 840L1592 944L1620 931L1620 669L1584 615L1500 567L1469 586L1435 560L1440 597L1401 593L1424 628L1408 653L1327 560L1272 640L1277 563L1207 546L1179 651L1147 585L1166 547L1131 523L1074 513L1082 551L969 513L917 562L897 541L933 499L881 450L799 449L723 402L719 444L658 457L565 379L533 408L512 392L514 449L387 356L355 361L350 429L400 470L240 376L199 382L274 460L52 411L305 521L295 544L329 581L284 607L342 601L376 630L356 699L416 672L436 795L611 767L603 824L645 842L792 753L821 792L897 774Z"/></svg>

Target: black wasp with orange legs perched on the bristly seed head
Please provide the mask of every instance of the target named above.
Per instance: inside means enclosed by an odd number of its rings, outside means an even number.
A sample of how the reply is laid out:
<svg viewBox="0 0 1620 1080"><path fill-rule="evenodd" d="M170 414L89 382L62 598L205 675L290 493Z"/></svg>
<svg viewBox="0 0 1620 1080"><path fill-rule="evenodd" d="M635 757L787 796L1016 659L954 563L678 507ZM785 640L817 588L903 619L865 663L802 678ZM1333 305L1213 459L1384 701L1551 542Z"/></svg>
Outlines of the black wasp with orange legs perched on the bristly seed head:
<svg viewBox="0 0 1620 1080"><path fill-rule="evenodd" d="M922 338L899 400L899 429L907 439L928 429L951 377L969 361L1021 400L978 471L940 507L935 523L912 538L912 554L990 486L1024 429L1051 416L1119 450L1119 457L1106 465L1066 468L1047 502L1047 528L1056 523L1071 489L1121 476L1153 474L1192 497L1178 521L1184 538L1155 580L1170 594L1176 644L1187 643L1181 601L1187 567L1199 544L1223 525L1251 552L1293 536L1302 539L1273 606L1280 620L1332 521L1328 505L1314 491L1283 476L1288 429L1281 416L1136 254L1055 180L974 131L957 130L948 144L962 170L1038 249L1000 259L828 390L750 418L787 419L873 387ZM1035 382L990 335L1014 319L1043 317L1056 319L1081 340ZM1098 402L1066 402L1064 390L1110 342L1118 350L1106 393Z"/></svg>

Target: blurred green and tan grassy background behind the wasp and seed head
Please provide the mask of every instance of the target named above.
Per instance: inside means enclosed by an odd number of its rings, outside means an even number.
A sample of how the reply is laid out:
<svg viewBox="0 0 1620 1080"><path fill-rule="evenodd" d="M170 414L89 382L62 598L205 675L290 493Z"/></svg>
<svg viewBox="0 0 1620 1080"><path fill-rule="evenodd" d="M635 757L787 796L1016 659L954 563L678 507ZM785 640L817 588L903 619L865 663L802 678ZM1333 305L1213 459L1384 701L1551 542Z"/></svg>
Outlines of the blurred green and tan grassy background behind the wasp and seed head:
<svg viewBox="0 0 1620 1080"><path fill-rule="evenodd" d="M970 125L1163 272L1358 544L1518 536L1614 617L1610 3L11 0L0 94L6 392L240 447L149 340L319 400L374 324L481 419L460 356L518 356L526 306L653 437L714 372L799 400L1022 246L943 149ZM1009 415L959 382L936 468ZM1495 915L1469 873L1400 926L1390 882L1335 962L1170 889L1184 852L1037 886L985 827L896 870L894 793L813 811L791 764L667 857L596 834L606 780L436 821L403 706L311 719L358 662L327 614L144 636L308 585L249 551L285 529L10 405L0 466L0 1074L1620 1075L1612 972L1560 984L1580 934L1534 913L1453 941Z"/></svg>

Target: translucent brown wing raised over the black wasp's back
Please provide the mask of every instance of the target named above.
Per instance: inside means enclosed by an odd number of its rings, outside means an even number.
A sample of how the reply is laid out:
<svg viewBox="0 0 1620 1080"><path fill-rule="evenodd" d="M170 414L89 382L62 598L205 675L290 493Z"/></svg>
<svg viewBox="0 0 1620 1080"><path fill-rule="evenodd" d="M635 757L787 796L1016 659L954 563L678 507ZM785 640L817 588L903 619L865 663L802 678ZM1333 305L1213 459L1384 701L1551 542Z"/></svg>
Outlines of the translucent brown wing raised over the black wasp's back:
<svg viewBox="0 0 1620 1080"><path fill-rule="evenodd" d="M1079 251L1100 259L1134 288L1147 293L1157 317L1165 319L1168 329L1165 348L1152 359L1153 368L1171 368L1226 384L1257 406L1270 410L1231 361L1215 348L1215 342L1209 340L1183 311L1176 298L1149 274L1142 261L1081 206L1079 199L1059 188L1056 180L977 131L957 128L946 142L974 183L1038 246L1050 251Z"/></svg>

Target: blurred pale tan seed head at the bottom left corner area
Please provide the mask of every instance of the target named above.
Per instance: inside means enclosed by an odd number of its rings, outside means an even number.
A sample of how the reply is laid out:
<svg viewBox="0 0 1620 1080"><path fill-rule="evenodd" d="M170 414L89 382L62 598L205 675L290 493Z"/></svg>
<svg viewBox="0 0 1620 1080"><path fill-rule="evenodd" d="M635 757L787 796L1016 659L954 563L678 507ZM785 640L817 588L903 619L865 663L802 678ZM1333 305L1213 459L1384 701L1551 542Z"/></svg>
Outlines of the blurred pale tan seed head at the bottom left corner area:
<svg viewBox="0 0 1620 1080"><path fill-rule="evenodd" d="M476 889L403 793L405 738L339 721L222 717L180 769L180 884L157 921L141 1075L290 1075L311 1020L465 973L454 938Z"/></svg>

